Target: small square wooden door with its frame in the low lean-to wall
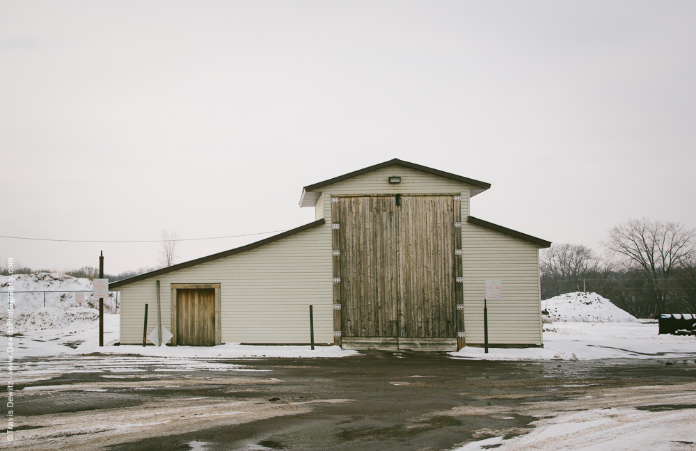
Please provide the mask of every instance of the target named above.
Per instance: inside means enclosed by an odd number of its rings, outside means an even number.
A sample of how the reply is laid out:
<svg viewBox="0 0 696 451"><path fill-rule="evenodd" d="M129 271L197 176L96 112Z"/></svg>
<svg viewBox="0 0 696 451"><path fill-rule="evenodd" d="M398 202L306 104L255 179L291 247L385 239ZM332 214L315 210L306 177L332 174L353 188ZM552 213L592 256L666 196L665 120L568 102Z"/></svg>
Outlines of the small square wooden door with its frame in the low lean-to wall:
<svg viewBox="0 0 696 451"><path fill-rule="evenodd" d="M215 289L176 290L176 342L180 346L215 345Z"/></svg>

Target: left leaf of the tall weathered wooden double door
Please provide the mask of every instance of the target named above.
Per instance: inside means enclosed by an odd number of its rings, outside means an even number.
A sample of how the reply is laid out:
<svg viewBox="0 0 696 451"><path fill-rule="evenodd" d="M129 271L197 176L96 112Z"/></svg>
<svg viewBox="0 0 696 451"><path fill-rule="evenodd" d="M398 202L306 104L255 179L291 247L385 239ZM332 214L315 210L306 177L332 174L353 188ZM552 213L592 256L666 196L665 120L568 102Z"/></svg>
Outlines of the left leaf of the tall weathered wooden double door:
<svg viewBox="0 0 696 451"><path fill-rule="evenodd" d="M398 333L393 197L340 198L342 329L345 337Z"/></svg>

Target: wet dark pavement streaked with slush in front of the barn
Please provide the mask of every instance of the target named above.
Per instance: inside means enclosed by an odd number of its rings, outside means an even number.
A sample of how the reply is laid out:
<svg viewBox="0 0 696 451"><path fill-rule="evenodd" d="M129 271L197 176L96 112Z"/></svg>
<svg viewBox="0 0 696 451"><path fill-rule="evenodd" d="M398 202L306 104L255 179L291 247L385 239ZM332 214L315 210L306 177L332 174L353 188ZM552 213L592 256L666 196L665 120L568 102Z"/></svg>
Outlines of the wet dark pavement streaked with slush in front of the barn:
<svg viewBox="0 0 696 451"><path fill-rule="evenodd" d="M609 408L622 393L693 391L696 381L693 359L496 362L386 351L180 362L91 355L20 366L15 446L27 450L452 450L525 434L588 402Z"/></svg>

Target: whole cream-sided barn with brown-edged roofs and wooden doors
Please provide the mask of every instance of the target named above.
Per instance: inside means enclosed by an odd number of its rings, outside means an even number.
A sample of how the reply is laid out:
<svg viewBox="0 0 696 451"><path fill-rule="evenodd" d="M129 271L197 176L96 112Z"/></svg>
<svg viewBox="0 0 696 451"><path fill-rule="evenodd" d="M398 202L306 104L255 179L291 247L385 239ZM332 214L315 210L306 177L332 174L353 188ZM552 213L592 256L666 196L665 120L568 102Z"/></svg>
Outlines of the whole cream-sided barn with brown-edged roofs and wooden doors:
<svg viewBox="0 0 696 451"><path fill-rule="evenodd" d="M477 219L469 200L490 184L393 159L302 190L316 221L274 237L109 284L121 299L120 342L142 344L161 321L171 345L317 344L455 350L543 346L544 239ZM149 332L149 331L148 331Z"/></svg>

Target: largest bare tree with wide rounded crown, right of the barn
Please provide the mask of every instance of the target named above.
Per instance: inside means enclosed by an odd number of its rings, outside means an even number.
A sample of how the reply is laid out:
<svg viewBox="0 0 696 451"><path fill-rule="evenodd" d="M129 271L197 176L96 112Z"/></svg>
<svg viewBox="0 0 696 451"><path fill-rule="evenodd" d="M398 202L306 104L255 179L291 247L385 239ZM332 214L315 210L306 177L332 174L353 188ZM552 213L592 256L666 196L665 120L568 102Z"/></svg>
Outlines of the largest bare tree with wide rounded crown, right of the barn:
<svg viewBox="0 0 696 451"><path fill-rule="evenodd" d="M681 223L631 219L609 230L603 245L628 268L640 271L656 309L664 312L674 301L670 277L677 268L688 266L696 251L696 229Z"/></svg>

